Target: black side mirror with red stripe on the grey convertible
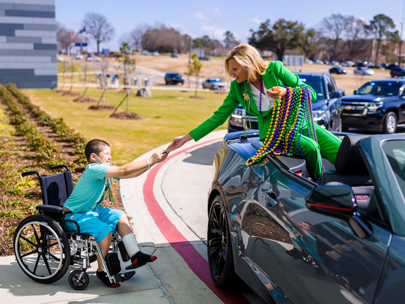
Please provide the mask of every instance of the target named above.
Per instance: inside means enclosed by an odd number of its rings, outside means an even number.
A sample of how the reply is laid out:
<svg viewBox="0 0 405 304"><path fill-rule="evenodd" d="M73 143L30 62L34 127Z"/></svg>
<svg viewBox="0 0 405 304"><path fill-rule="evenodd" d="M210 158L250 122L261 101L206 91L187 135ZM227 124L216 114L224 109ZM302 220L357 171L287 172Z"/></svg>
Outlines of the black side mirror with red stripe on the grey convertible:
<svg viewBox="0 0 405 304"><path fill-rule="evenodd" d="M320 185L305 197L308 210L346 221L359 238L371 236L370 226L357 213L356 200L350 186Z"/></svg>

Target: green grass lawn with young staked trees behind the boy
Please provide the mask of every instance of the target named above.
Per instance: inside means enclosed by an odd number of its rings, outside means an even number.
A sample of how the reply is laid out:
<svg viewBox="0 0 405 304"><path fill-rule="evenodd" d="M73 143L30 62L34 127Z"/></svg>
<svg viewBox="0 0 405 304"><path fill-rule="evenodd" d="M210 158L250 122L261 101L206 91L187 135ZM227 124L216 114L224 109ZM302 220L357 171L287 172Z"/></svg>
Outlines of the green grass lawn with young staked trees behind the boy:
<svg viewBox="0 0 405 304"><path fill-rule="evenodd" d="M146 151L186 134L211 117L226 97L215 92L198 92L197 96L204 99L195 99L190 98L194 92L151 90L152 98L129 97L129 111L145 119L118 120L109 117L113 110L90 110L94 103L74 102L76 96L62 96L52 90L22 92L53 118L63 118L86 139L106 140L111 145L115 165L131 162ZM83 93L83 88L73 88L72 92ZM100 89L90 88L86 97L99 100L101 94ZM117 106L124 97L123 93L107 90L105 104ZM125 109L126 102L119 111ZM220 127L223 128L227 128L227 123Z"/></svg>

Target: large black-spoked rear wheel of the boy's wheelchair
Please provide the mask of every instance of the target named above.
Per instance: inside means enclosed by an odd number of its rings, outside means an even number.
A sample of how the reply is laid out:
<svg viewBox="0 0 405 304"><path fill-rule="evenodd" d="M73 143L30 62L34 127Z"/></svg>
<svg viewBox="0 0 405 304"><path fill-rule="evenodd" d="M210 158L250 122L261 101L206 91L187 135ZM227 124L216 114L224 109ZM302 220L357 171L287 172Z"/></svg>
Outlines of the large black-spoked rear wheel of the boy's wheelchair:
<svg viewBox="0 0 405 304"><path fill-rule="evenodd" d="M36 282L56 282L69 268L69 241L59 224L48 216L30 215L23 219L16 228L13 244L21 270Z"/></svg>

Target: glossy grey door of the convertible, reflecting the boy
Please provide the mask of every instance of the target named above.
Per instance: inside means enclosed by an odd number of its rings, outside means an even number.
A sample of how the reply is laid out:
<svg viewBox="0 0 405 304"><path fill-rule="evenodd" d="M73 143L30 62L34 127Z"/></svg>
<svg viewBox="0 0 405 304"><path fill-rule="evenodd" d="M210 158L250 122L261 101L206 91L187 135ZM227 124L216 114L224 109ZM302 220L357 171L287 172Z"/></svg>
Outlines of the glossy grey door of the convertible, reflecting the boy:
<svg viewBox="0 0 405 304"><path fill-rule="evenodd" d="M372 236L360 239L345 221L309 211L304 198L314 184L276 165L265 164L268 176L251 201L251 217L261 221L251 226L254 271L265 296L370 303L390 232L370 222Z"/></svg>

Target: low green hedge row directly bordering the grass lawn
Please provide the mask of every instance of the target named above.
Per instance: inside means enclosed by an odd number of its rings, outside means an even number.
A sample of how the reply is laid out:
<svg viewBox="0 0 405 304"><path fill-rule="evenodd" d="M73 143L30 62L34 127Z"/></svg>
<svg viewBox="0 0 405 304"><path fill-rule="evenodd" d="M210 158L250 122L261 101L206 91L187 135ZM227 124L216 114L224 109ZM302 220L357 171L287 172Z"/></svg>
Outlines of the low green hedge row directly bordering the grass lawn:
<svg viewBox="0 0 405 304"><path fill-rule="evenodd" d="M74 129L67 126L61 118L53 119L46 112L41 110L38 106L33 105L29 98L18 90L15 84L9 83L6 88L17 98L17 100L31 113L39 125L49 126L52 132L56 133L61 140L71 142L73 145L73 155L78 157L76 166L86 164L86 159L83 157L85 154L86 139L75 132Z"/></svg>

